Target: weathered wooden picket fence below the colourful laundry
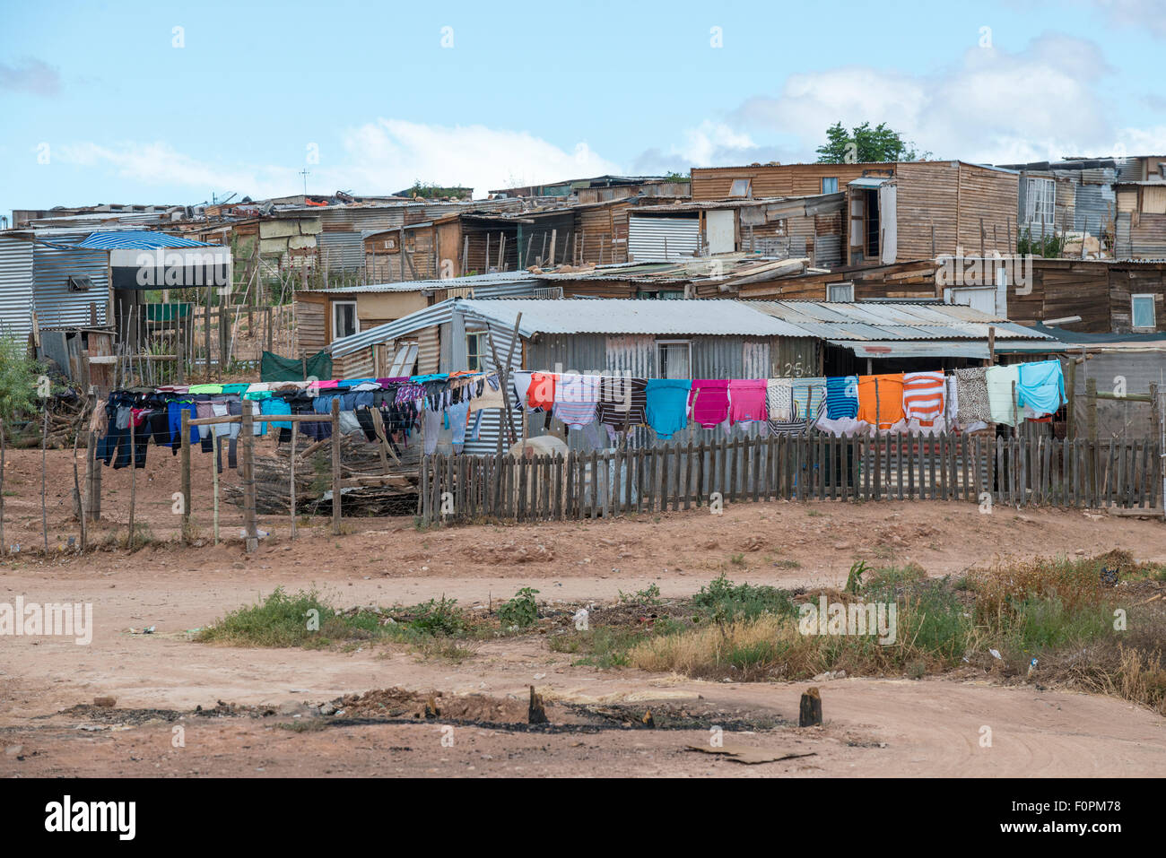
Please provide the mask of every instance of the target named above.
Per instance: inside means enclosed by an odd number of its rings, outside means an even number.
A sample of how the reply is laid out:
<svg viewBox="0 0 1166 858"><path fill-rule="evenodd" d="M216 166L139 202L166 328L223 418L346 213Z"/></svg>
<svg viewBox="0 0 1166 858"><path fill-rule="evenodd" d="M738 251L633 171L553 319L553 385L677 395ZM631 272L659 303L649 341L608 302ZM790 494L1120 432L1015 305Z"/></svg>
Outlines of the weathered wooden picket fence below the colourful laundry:
<svg viewBox="0 0 1166 858"><path fill-rule="evenodd" d="M986 505L1161 506L1154 438L778 436L535 456L426 456L424 525L559 521L719 501L965 500Z"/></svg>

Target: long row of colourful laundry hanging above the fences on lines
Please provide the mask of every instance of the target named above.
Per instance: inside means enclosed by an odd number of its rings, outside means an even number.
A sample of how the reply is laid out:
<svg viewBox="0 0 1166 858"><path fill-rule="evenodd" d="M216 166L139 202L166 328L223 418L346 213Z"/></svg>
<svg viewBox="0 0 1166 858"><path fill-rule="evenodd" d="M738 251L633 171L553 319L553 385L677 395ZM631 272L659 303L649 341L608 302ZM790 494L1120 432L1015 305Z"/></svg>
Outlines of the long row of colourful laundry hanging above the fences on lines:
<svg viewBox="0 0 1166 858"><path fill-rule="evenodd" d="M1060 361L1011 366L883 373L877 375L771 379L648 379L630 373L555 373L513 371L504 395L498 372L465 370L399 378L271 381L254 384L163 386L114 391L94 410L101 435L98 458L114 467L129 465L129 423L134 426L133 460L145 466L146 449L181 445L182 412L195 419L241 414L243 401L257 402L264 415L318 414L301 424L311 439L331 437L332 400L339 399L343 434L363 432L378 441L370 409L379 409L387 441L398 455L419 430L431 455L442 429L450 430L461 452L466 438L477 441L482 412L504 408L510 400L529 414L543 414L545 428L559 420L569 431L583 430L599 446L598 427L611 441L638 427L661 439L695 424L731 432L756 426L763 432L798 435L810 429L835 436L971 432L990 423L1014 426L1047 421L1066 401ZM274 421L280 441L290 437L290 421ZM143 431L136 431L139 428ZM213 436L227 441L234 466L239 423L190 427L187 443L215 449ZM257 423L255 435L267 424Z"/></svg>

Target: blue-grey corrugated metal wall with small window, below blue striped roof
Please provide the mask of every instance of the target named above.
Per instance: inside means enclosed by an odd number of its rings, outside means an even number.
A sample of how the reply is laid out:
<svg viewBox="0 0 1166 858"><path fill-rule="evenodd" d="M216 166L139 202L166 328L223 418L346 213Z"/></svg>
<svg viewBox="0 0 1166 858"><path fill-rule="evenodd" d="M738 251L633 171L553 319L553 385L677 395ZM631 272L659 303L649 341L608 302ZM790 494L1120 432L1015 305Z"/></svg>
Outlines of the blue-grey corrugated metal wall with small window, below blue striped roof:
<svg viewBox="0 0 1166 858"><path fill-rule="evenodd" d="M64 242L72 239L55 237L54 240ZM92 312L96 312L97 324L106 324L106 310L110 305L108 266L108 251L63 251L37 244L33 251L33 301L37 324L42 329L89 325ZM89 277L93 283L92 288L70 291L70 275ZM90 307L94 310L91 311Z"/></svg>

